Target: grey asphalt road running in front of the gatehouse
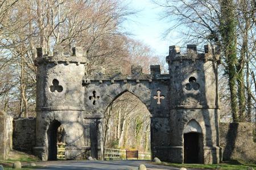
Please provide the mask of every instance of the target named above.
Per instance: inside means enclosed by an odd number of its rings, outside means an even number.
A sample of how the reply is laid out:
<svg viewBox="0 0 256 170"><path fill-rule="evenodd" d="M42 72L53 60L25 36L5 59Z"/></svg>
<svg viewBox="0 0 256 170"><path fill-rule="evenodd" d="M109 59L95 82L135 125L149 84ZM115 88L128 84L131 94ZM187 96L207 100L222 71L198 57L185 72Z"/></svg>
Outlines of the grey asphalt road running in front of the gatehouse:
<svg viewBox="0 0 256 170"><path fill-rule="evenodd" d="M38 162L36 163L39 166L42 166L38 169L40 170L60 170L60 169L96 169L96 170L116 170L116 169L126 169L126 170L135 170L138 169L140 164L146 165L148 170L163 170L163 169L180 169L175 167L168 167L164 165L155 165L150 164L144 160L112 160L112 161L89 161L89 160L80 160L80 161L49 161L49 162Z"/></svg>

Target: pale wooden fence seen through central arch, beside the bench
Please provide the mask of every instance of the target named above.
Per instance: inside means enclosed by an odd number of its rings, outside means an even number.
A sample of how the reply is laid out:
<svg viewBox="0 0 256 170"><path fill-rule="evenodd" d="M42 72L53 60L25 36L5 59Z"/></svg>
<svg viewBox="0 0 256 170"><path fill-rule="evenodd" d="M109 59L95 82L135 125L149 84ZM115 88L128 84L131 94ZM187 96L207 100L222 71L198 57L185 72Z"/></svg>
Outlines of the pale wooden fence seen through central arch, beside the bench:
<svg viewBox="0 0 256 170"><path fill-rule="evenodd" d="M104 158L106 159L126 159L126 150L118 150L114 148L105 148ZM150 159L150 152L139 152L139 159Z"/></svg>

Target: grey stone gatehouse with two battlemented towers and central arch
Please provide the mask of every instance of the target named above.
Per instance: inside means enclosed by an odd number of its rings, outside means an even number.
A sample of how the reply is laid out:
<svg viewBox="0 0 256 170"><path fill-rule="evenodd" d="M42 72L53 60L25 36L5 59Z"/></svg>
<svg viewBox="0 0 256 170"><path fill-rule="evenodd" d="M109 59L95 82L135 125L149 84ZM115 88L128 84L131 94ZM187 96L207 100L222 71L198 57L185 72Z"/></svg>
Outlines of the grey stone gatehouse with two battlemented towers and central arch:
<svg viewBox="0 0 256 170"><path fill-rule="evenodd" d="M39 48L36 75L36 146L42 160L56 159L57 130L65 131L66 148L88 150L102 158L102 118L118 96L130 92L151 114L152 157L175 163L218 163L221 159L218 135L218 53L195 45L181 54L170 46L166 61L170 74L159 65L151 74L132 66L131 75L85 75L82 48L71 51L56 46L53 54ZM72 155L72 153L69 153Z"/></svg>

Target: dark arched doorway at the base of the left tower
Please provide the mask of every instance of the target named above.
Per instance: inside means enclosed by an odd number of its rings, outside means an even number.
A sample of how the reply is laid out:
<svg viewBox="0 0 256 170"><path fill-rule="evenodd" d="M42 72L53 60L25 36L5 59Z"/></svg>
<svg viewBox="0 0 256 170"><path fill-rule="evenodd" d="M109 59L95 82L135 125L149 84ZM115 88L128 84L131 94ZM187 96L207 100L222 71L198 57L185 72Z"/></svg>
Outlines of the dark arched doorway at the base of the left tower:
<svg viewBox="0 0 256 170"><path fill-rule="evenodd" d="M65 143L65 130L61 123L53 120L47 130L48 160L57 160L57 142Z"/></svg>

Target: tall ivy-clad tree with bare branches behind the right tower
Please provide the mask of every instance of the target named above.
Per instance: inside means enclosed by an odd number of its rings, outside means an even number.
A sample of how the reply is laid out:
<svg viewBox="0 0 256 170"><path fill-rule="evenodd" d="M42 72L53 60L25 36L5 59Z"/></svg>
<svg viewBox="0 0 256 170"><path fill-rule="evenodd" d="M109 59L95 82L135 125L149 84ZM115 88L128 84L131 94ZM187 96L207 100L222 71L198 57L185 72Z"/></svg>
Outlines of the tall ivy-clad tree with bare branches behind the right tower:
<svg viewBox="0 0 256 170"><path fill-rule="evenodd" d="M229 83L230 97L226 99L230 99L233 121L245 121L246 115L250 115L251 99L255 99L251 92L253 87L249 86L253 78L249 70L255 70L254 1L154 2L164 8L163 18L175 23L167 32L179 28L185 43L210 43L221 47L221 64Z"/></svg>

